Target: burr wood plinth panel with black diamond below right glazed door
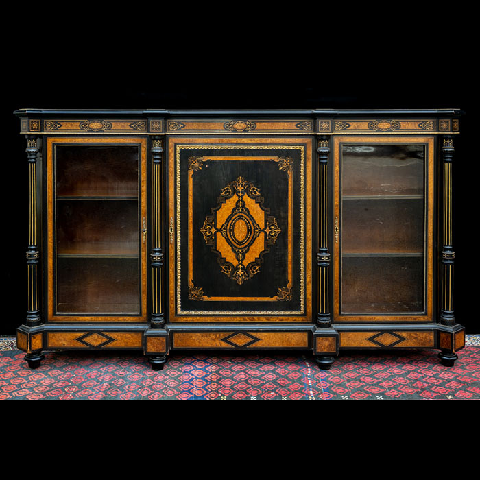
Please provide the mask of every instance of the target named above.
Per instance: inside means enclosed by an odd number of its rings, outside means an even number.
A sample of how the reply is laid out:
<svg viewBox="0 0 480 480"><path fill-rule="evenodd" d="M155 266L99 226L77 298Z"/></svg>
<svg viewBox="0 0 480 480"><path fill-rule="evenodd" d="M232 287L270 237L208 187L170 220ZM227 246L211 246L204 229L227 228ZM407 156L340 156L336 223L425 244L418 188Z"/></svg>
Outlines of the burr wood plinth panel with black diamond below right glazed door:
<svg viewBox="0 0 480 480"><path fill-rule="evenodd" d="M434 331L340 332L340 348L434 347Z"/></svg>

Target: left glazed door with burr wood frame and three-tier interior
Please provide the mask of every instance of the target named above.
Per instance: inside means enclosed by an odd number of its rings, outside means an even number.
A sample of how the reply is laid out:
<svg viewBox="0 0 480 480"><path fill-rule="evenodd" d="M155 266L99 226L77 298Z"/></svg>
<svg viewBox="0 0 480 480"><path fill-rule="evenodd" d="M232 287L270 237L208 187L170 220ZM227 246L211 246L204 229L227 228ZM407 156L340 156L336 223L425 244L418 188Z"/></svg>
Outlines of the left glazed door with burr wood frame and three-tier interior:
<svg viewBox="0 0 480 480"><path fill-rule="evenodd" d="M49 321L147 321L146 165L145 139L47 139Z"/></svg>

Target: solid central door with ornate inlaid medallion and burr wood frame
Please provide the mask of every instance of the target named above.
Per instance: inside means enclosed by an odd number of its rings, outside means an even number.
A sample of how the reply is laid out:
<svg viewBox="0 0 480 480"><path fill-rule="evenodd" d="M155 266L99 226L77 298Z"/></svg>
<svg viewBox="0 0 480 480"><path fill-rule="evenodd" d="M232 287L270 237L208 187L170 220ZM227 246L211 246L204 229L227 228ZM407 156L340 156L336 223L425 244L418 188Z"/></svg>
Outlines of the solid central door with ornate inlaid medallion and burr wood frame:
<svg viewBox="0 0 480 480"><path fill-rule="evenodd" d="M170 322L311 322L311 139L169 139Z"/></svg>

